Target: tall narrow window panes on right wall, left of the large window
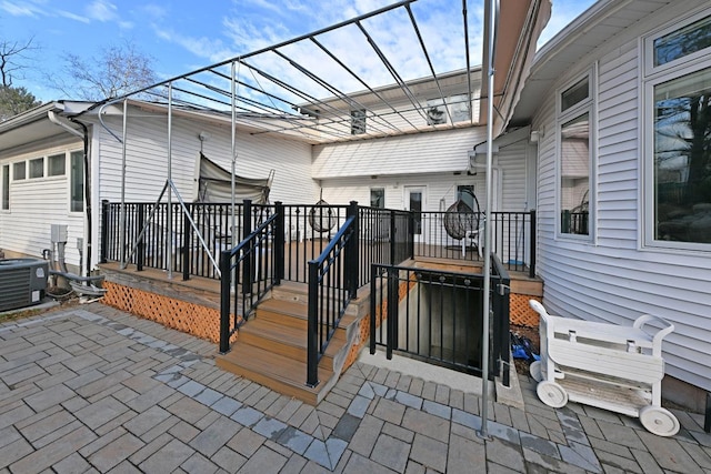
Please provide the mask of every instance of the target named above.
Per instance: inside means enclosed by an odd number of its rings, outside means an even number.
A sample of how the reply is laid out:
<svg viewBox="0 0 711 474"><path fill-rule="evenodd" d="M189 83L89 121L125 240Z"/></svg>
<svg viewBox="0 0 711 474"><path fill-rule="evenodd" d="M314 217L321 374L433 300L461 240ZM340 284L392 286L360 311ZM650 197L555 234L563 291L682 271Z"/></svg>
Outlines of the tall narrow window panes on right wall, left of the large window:
<svg viewBox="0 0 711 474"><path fill-rule="evenodd" d="M559 231L567 235L590 235L590 75L559 97Z"/></svg>

